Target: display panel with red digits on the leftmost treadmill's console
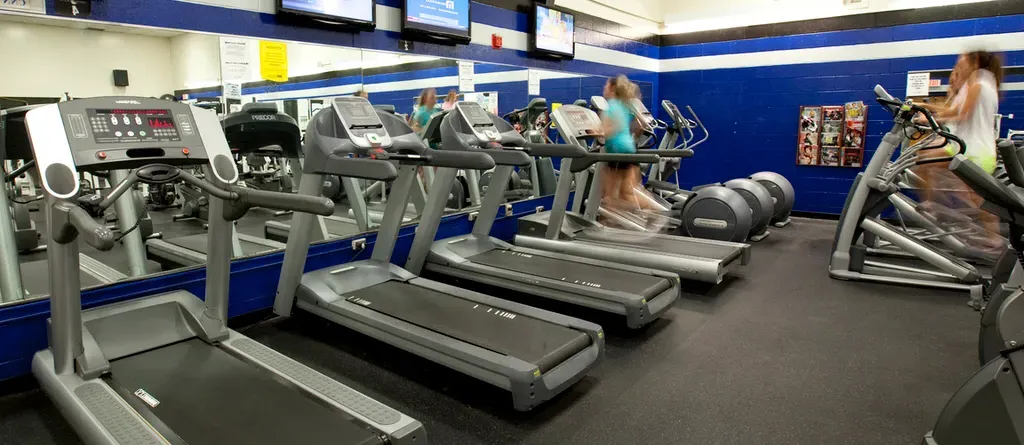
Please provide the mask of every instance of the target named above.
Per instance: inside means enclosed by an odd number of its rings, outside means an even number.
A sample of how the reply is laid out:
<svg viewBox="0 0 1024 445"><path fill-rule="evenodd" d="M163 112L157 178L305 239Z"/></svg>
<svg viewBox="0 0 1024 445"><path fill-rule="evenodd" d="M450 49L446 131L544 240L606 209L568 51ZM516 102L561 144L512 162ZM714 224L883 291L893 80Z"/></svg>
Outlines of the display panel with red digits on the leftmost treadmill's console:
<svg viewBox="0 0 1024 445"><path fill-rule="evenodd" d="M170 109L89 108L87 114L96 143L181 140Z"/></svg>

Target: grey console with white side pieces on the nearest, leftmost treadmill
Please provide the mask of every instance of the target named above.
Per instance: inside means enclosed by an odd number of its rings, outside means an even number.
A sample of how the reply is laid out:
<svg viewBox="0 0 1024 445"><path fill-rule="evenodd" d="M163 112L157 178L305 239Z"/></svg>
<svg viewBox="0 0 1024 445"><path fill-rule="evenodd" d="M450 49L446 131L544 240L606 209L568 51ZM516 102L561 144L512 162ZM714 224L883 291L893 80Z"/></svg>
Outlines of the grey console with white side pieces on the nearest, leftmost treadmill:
<svg viewBox="0 0 1024 445"><path fill-rule="evenodd" d="M43 187L69 198L78 172L151 164L209 164L222 182L238 170L213 112L147 97L92 97L39 106L26 115Z"/></svg>

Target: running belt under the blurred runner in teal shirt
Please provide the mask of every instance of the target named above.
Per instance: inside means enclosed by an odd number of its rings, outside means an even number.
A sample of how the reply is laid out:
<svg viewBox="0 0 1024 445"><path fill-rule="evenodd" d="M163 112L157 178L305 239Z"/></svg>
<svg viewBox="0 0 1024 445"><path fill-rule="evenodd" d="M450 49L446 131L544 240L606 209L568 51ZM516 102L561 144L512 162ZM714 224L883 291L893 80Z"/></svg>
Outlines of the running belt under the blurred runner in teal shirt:
<svg viewBox="0 0 1024 445"><path fill-rule="evenodd" d="M689 242L681 236L667 239L665 236L631 232L629 230L590 229L577 233L577 238L584 241L600 242L608 246L627 246L653 253L687 255L719 261L731 261L742 253L741 249L732 246L716 246L707 242Z"/></svg>

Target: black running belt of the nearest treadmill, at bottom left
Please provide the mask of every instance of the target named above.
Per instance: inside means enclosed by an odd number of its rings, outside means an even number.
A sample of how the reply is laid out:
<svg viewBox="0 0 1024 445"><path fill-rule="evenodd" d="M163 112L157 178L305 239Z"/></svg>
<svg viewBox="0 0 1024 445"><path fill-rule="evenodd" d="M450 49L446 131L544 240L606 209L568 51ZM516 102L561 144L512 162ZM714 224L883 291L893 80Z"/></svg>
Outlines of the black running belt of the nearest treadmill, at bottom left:
<svg viewBox="0 0 1024 445"><path fill-rule="evenodd" d="M111 371L109 383L143 417L189 445L382 443L344 412L199 339L115 360Z"/></svg>

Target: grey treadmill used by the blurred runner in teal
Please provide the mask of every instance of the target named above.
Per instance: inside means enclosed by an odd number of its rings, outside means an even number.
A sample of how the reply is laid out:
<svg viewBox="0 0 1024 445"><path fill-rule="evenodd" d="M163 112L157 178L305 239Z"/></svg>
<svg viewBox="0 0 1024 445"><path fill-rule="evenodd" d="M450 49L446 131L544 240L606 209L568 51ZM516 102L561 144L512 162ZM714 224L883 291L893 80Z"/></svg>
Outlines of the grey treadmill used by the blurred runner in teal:
<svg viewBox="0 0 1024 445"><path fill-rule="evenodd" d="M551 112L551 119L567 143L587 147L588 140L601 136L594 130L600 128L601 118L591 109L562 105ZM663 153L658 150L637 152ZM666 154L674 152L684 153L682 150L664 150ZM605 162L613 162L622 154L588 154L588 158L596 157ZM579 160L562 160L552 210L519 218L516 246L665 269L675 272L682 279L716 284L734 266L750 261L751 247L746 243L616 229L606 227L582 214L567 212L572 179L575 176L573 172L579 171L573 167L578 163ZM595 175L594 181L600 181L600 174ZM591 190L600 190L600 185L591 184ZM590 201L598 202L600 197L593 196Z"/></svg>

